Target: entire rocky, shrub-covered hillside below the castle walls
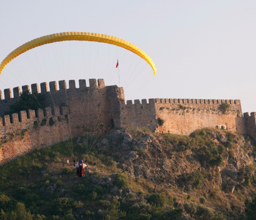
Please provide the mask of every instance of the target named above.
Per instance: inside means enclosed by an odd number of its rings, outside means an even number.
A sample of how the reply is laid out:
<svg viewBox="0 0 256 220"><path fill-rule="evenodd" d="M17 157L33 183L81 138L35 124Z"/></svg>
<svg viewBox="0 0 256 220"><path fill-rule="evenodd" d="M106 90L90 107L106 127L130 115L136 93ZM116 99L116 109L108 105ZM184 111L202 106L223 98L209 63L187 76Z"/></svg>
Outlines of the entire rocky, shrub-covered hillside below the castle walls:
<svg viewBox="0 0 256 220"><path fill-rule="evenodd" d="M248 136L120 129L78 137L76 161L88 156L89 163L83 178L66 144L0 167L0 219L255 219L255 144Z"/></svg>

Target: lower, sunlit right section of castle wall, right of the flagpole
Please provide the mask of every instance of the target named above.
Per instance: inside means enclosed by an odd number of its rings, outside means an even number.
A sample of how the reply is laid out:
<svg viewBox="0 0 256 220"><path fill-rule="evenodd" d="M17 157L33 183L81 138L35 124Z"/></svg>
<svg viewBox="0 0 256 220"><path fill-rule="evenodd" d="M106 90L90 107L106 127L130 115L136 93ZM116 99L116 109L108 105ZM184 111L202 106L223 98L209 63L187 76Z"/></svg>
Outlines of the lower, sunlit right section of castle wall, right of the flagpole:
<svg viewBox="0 0 256 220"><path fill-rule="evenodd" d="M223 114L222 103L230 104L230 110ZM186 107L182 109L181 107ZM137 128L145 127L157 133L175 133L189 135L204 127L226 126L228 130L246 133L246 125L242 117L240 100L216 99L146 99L127 100L120 107L121 126ZM164 120L162 126L158 118Z"/></svg>

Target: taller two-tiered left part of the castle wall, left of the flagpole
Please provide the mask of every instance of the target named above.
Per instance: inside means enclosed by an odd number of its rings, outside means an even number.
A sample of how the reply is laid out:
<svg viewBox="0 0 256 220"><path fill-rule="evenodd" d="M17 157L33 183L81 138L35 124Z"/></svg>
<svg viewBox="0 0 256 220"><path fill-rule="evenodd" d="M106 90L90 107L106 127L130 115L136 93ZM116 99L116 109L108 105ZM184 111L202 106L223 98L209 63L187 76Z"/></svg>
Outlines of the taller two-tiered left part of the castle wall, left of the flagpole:
<svg viewBox="0 0 256 220"><path fill-rule="evenodd" d="M79 88L76 88L75 81L69 81L69 89L65 80L59 81L59 90L55 81L48 84L41 83L41 93L45 94L44 110L37 112L29 110L12 115L12 123L9 115L0 118L1 137L10 140L2 144L0 149L0 164L17 156L31 151L34 148L50 146L71 137L77 136L99 136L105 133L113 125L120 124L120 103L124 100L123 88L117 86L105 86L103 79L89 79L89 86L85 80L79 80ZM29 86L22 86L22 91L29 90ZM32 92L39 92L38 84L31 85ZM11 90L5 89L5 98L0 100L0 113L18 98L12 98ZM13 89L18 91L19 87ZM49 125L49 120L54 120L54 125ZM47 125L41 126L42 120L47 119ZM21 139L16 135L12 139L12 133L22 133L29 128L29 135ZM15 140L15 141L14 141Z"/></svg>

